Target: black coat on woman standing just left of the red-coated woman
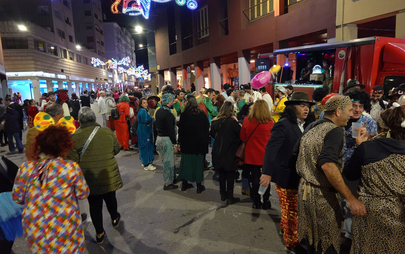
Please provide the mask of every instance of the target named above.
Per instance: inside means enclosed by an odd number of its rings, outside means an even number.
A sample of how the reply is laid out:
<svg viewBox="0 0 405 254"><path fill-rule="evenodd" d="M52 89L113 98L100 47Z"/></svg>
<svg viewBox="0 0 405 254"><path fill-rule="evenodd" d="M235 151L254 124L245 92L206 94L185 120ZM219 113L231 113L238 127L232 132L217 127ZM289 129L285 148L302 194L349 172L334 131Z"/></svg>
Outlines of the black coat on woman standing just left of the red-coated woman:
<svg viewBox="0 0 405 254"><path fill-rule="evenodd" d="M211 122L210 134L215 139L211 158L215 169L237 171L235 153L241 144L240 132L241 126L233 118L219 118Z"/></svg>

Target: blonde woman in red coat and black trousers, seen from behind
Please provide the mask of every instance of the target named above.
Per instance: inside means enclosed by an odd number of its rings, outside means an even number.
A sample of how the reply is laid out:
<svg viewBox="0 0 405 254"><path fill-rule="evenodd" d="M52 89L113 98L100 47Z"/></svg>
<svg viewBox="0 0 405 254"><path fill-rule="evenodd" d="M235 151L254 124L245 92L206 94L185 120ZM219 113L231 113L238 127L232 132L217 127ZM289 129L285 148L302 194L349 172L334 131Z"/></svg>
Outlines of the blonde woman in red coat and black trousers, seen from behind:
<svg viewBox="0 0 405 254"><path fill-rule="evenodd" d="M267 141L270 139L271 128L273 128L273 120L271 119L269 106L264 100L256 100L253 109L243 121L240 139L247 140L245 147L245 169L249 169L252 173L252 189L251 194L254 201L253 207L260 209L262 202L260 201L259 181L261 168L263 165L264 148ZM250 138L249 138L250 137ZM267 188L263 195L263 209L267 210L271 207L269 201L270 188Z"/></svg>

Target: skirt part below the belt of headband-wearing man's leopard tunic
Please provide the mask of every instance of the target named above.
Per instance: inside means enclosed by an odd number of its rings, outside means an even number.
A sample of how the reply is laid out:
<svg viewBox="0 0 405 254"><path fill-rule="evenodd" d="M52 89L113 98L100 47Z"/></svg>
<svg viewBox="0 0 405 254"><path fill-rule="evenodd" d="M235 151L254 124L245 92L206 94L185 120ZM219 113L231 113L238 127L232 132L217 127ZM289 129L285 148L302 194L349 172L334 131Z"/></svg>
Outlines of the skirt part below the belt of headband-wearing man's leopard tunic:
<svg viewBox="0 0 405 254"><path fill-rule="evenodd" d="M306 193L306 200L303 200L304 190L305 180L301 178L298 186L299 239L306 235L309 244L318 246L321 241L323 251L333 245L339 253L342 218L339 193L311 185L310 191Z"/></svg>

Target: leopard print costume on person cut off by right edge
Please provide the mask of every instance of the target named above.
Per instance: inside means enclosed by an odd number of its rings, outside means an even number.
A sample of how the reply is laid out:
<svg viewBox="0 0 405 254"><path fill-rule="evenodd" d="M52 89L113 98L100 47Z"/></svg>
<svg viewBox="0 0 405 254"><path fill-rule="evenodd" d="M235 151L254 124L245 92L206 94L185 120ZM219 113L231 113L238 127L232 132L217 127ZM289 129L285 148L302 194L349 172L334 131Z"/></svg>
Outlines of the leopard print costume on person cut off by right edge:
<svg viewBox="0 0 405 254"><path fill-rule="evenodd" d="M353 217L350 254L405 253L405 155L363 165L358 190L367 213Z"/></svg>

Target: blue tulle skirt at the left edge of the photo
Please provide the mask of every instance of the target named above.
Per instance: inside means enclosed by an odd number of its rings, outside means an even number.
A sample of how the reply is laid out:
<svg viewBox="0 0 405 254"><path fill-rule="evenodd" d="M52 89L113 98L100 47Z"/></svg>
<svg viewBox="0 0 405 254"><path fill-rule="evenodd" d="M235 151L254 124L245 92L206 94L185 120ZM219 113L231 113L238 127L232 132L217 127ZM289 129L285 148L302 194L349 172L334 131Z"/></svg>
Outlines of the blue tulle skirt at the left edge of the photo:
<svg viewBox="0 0 405 254"><path fill-rule="evenodd" d="M14 241L15 237L23 235L23 208L13 201L11 192L0 193L0 240Z"/></svg>

